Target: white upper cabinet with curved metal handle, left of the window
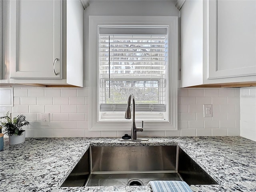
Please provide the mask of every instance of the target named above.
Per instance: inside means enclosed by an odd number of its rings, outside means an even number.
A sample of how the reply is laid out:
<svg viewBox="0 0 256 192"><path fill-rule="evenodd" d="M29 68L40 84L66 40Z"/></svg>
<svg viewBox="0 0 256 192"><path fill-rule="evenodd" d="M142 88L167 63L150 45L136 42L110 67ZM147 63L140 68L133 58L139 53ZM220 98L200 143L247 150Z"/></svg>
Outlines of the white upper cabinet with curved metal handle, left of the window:
<svg viewBox="0 0 256 192"><path fill-rule="evenodd" d="M10 83L83 86L79 0L10 1Z"/></svg>

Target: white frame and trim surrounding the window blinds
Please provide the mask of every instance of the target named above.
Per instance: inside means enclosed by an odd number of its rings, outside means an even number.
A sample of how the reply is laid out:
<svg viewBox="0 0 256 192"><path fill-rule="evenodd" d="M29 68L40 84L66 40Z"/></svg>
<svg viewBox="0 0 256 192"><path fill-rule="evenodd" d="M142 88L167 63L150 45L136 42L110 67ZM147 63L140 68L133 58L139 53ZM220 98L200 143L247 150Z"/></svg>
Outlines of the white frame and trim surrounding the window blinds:
<svg viewBox="0 0 256 192"><path fill-rule="evenodd" d="M130 130L131 120L98 121L98 26L169 26L169 121L144 121L144 130L177 130L178 17L176 16L89 16L90 130ZM136 118L137 120L137 118ZM140 123L138 123L140 126Z"/></svg>

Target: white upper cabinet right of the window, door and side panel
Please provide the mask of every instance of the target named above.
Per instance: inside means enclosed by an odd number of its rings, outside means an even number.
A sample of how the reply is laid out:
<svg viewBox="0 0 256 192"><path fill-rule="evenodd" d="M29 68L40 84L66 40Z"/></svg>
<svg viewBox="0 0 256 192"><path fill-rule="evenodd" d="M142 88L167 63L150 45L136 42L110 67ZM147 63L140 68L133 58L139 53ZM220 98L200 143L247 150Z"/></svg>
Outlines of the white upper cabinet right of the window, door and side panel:
<svg viewBox="0 0 256 192"><path fill-rule="evenodd" d="M187 0L180 30L181 87L256 84L255 0Z"/></svg>

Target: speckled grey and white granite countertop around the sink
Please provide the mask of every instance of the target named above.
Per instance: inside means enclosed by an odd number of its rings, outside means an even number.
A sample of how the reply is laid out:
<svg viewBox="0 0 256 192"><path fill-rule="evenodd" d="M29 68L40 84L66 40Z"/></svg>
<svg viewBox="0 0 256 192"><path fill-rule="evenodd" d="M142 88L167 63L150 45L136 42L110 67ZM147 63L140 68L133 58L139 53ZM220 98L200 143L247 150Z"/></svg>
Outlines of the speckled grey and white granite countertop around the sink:
<svg viewBox="0 0 256 192"><path fill-rule="evenodd" d="M192 185L195 192L256 192L256 142L242 137L168 137L148 141L118 138L26 138L0 151L0 191L150 192L149 186L64 187L60 185L89 146L178 145L219 185Z"/></svg>

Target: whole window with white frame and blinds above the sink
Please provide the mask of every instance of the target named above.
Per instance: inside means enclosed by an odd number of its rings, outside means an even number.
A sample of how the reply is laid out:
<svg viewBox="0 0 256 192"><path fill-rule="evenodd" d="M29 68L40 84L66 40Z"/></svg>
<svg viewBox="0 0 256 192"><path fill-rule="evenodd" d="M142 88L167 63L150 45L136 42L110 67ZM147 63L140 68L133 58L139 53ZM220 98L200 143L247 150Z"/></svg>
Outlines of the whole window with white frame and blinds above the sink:
<svg viewBox="0 0 256 192"><path fill-rule="evenodd" d="M136 121L176 130L177 41L177 17L89 16L92 130L129 130L131 93Z"/></svg>

